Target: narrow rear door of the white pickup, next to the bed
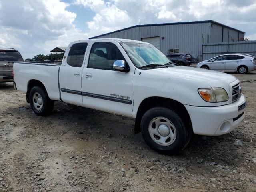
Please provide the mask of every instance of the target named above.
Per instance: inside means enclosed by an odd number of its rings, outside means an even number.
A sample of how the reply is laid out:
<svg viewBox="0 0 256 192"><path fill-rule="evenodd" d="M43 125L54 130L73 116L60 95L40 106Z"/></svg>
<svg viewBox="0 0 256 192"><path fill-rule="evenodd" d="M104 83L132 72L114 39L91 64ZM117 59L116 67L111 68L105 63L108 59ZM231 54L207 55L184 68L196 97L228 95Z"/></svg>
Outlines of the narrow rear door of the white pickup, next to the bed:
<svg viewBox="0 0 256 192"><path fill-rule="evenodd" d="M64 102L83 105L81 79L87 46L86 42L74 43L64 54L59 72L61 99Z"/></svg>

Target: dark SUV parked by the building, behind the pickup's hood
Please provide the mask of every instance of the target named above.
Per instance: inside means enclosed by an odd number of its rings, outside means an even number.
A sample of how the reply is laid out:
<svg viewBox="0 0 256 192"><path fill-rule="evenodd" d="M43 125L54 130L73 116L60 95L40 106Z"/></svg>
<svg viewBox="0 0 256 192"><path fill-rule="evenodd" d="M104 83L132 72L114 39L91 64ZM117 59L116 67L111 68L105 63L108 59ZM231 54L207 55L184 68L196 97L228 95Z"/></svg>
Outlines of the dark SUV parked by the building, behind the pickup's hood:
<svg viewBox="0 0 256 192"><path fill-rule="evenodd" d="M172 62L182 65L182 66L190 66L194 64L194 57L191 56L190 53L179 53L179 54L169 54L166 55Z"/></svg>

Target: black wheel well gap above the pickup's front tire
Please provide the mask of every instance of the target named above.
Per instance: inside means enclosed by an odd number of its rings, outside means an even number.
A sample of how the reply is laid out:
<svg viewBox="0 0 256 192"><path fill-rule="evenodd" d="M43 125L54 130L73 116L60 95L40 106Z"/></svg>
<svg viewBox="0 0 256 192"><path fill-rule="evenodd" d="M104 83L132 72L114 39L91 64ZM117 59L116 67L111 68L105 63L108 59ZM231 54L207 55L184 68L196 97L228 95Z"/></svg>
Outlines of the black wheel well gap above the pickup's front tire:
<svg viewBox="0 0 256 192"><path fill-rule="evenodd" d="M138 111L135 119L135 128L134 128L135 134L140 132L140 122L144 113L150 108L153 108L155 106L163 106L163 107L167 107L169 109L175 110L184 121L186 128L193 131L190 116L185 106L182 103L170 98L148 97L148 98L145 98L140 103L140 106L138 107Z"/></svg>

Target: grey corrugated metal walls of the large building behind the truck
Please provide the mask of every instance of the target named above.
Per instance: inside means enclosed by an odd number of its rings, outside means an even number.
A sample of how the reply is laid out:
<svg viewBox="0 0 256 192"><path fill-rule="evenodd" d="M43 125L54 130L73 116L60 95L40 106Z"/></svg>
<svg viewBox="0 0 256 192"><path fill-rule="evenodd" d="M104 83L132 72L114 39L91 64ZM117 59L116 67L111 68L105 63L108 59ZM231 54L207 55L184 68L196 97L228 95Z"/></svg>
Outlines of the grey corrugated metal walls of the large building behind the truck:
<svg viewBox="0 0 256 192"><path fill-rule="evenodd" d="M98 38L123 38L141 40L148 37L160 37L160 51L168 54L169 49L180 50L180 53L190 53L198 61L202 60L202 44L210 42L222 41L222 26L218 24L211 25L208 23L193 23L193 24L170 24L159 26L137 26L127 30L106 34ZM230 31L230 39L233 33L238 39L238 32L225 28L225 32ZM162 39L163 38L163 39ZM228 37L225 36L224 40Z"/></svg>

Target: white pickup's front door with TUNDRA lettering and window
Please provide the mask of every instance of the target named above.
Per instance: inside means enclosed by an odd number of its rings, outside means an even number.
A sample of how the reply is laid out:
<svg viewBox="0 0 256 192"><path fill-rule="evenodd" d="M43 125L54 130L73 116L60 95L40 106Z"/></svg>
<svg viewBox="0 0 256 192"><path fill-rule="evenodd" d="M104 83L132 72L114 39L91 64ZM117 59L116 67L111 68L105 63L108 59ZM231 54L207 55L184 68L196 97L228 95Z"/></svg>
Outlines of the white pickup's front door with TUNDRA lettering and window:
<svg viewBox="0 0 256 192"><path fill-rule="evenodd" d="M115 42L94 42L90 47L82 72L84 106L132 116L135 68L129 72L113 69L116 60L129 60L122 46Z"/></svg>

